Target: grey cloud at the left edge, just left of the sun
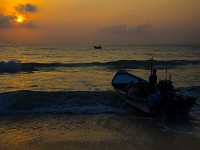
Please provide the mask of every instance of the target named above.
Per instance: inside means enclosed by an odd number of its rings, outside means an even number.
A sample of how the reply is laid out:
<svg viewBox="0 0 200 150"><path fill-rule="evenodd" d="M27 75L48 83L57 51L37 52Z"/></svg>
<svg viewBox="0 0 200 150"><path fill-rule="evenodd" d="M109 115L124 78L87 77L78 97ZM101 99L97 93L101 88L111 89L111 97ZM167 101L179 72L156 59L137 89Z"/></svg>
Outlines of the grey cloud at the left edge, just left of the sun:
<svg viewBox="0 0 200 150"><path fill-rule="evenodd" d="M0 15L0 29L14 26L13 21L15 18L16 18L15 16Z"/></svg>

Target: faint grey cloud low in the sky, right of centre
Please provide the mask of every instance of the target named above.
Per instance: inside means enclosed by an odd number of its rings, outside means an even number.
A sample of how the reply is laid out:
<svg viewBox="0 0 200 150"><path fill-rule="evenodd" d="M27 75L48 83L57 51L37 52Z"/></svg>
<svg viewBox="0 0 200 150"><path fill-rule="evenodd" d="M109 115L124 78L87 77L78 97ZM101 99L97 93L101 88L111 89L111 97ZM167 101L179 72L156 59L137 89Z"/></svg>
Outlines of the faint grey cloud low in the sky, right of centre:
<svg viewBox="0 0 200 150"><path fill-rule="evenodd" d="M126 24L115 25L101 29L101 31L109 34L135 34L139 35L146 32L150 28L150 24L139 24L136 27L128 28Z"/></svg>

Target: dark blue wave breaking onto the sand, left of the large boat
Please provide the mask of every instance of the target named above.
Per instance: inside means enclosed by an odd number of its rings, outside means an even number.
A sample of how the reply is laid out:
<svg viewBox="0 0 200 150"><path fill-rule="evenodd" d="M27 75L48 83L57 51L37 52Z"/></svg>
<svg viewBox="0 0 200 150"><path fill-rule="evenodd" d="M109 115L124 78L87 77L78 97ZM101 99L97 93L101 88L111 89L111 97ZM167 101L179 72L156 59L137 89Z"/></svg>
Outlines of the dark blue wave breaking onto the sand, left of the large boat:
<svg viewBox="0 0 200 150"><path fill-rule="evenodd" d="M0 113L125 113L112 91L16 91L0 94Z"/></svg>

